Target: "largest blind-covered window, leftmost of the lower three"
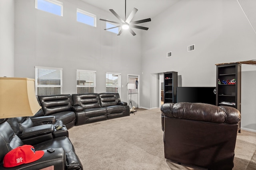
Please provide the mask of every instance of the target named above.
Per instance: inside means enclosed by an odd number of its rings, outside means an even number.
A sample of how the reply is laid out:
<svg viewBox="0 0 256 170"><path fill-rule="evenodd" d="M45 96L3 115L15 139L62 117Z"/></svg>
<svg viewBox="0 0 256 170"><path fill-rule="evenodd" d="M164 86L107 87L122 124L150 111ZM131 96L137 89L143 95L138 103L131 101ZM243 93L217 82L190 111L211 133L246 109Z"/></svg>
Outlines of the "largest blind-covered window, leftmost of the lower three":
<svg viewBox="0 0 256 170"><path fill-rule="evenodd" d="M36 95L62 94L62 68L35 67Z"/></svg>

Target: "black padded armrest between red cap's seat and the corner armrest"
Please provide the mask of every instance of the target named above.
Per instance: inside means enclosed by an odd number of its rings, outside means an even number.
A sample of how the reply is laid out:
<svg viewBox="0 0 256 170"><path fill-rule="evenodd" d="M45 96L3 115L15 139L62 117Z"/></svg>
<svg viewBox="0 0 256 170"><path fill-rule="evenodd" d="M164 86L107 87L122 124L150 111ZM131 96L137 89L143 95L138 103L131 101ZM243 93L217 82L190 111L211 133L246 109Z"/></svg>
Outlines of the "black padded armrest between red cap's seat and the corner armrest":
<svg viewBox="0 0 256 170"><path fill-rule="evenodd" d="M46 135L49 133L54 132L54 125L52 124L46 124L46 125L39 125L39 126L34 126L25 129L21 134L20 134L20 139L30 139L42 135Z"/></svg>

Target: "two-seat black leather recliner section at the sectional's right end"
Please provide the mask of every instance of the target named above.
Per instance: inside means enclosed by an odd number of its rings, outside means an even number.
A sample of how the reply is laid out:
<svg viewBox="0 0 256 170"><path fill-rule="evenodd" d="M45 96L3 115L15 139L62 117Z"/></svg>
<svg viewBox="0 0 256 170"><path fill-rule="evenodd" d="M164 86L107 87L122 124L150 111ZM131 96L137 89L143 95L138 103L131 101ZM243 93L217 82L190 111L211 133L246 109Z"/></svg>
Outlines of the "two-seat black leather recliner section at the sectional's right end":
<svg viewBox="0 0 256 170"><path fill-rule="evenodd" d="M72 109L76 125L130 115L129 106L121 102L118 93L72 94Z"/></svg>

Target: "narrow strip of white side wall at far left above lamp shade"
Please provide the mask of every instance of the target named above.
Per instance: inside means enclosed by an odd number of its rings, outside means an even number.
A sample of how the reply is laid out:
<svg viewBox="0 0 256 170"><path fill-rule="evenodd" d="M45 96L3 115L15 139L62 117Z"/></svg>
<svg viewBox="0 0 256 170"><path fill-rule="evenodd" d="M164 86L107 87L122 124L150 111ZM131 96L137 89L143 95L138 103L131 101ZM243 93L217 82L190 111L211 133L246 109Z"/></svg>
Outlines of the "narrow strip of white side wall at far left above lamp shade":
<svg viewBox="0 0 256 170"><path fill-rule="evenodd" d="M0 0L0 77L14 77L14 0Z"/></svg>

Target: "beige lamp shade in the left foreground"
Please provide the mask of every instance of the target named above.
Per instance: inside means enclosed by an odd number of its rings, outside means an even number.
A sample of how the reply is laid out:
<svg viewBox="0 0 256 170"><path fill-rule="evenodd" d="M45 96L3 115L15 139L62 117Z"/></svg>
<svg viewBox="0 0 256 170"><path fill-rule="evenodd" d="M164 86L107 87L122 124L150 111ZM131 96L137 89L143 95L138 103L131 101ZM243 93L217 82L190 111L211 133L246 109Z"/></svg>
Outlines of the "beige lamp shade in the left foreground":
<svg viewBox="0 0 256 170"><path fill-rule="evenodd" d="M34 79L0 77L0 119L33 116L40 108Z"/></svg>

